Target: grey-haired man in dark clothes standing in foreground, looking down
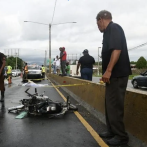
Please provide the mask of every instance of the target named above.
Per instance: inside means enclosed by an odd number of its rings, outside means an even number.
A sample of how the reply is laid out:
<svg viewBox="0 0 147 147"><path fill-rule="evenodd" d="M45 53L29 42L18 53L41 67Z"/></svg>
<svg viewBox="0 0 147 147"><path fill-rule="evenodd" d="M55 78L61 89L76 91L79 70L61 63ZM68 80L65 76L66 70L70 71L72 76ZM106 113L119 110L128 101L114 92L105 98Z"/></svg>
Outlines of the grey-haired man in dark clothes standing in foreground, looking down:
<svg viewBox="0 0 147 147"><path fill-rule="evenodd" d="M97 25L103 33L102 80L106 83L105 113L107 132L100 134L109 138L109 145L127 144L128 135L123 122L124 97L131 74L126 38L120 25L112 22L108 11L100 11L96 17Z"/></svg>

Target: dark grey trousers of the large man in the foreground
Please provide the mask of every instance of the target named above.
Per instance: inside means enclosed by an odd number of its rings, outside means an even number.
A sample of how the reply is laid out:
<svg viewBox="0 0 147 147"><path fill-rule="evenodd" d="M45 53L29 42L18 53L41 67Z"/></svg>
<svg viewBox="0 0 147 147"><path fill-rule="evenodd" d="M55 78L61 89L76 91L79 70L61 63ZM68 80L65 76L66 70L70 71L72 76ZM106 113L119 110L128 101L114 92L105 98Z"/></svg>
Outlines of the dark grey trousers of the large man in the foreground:
<svg viewBox="0 0 147 147"><path fill-rule="evenodd" d="M110 84L106 84L105 91L107 129L120 138L128 138L123 122L127 83L128 77L111 78Z"/></svg>

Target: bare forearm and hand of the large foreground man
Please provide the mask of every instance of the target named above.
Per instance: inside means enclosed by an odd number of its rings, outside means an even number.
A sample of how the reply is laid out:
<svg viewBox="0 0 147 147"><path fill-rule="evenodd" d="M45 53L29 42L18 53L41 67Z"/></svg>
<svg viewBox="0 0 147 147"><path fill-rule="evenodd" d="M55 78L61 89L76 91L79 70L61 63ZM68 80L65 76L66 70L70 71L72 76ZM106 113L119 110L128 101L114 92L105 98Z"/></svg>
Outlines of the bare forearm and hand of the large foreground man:
<svg viewBox="0 0 147 147"><path fill-rule="evenodd" d="M112 70L113 70L115 64L117 63L117 61L119 59L120 53L121 53L121 50L113 50L112 51L110 62L107 66L105 73L102 76L103 82L105 82L105 83L110 82L109 80L110 80L110 77L111 77Z"/></svg>

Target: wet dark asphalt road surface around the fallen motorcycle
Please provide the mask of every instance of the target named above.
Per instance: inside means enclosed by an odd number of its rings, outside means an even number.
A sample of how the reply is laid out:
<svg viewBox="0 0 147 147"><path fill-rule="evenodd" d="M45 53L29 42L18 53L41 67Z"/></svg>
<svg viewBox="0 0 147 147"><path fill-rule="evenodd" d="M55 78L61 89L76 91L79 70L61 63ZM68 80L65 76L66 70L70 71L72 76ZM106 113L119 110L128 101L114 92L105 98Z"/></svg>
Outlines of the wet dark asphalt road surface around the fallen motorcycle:
<svg viewBox="0 0 147 147"><path fill-rule="evenodd" d="M24 92L27 87L18 86L22 84L19 77L13 78L12 82L11 85L5 86L5 108L2 109L0 104L0 147L100 147L73 112L52 119L48 116L16 119L18 114L8 113L7 109L21 104L19 100L27 97ZM49 82L43 80L37 83L47 84ZM37 90L39 94L45 91L45 95L53 101L64 101L54 88L40 87ZM59 90L65 97L68 96L68 93L61 88ZM30 88L29 91L34 94L34 88ZM70 99L78 106L78 112L97 133L106 131L103 123L72 97Z"/></svg>

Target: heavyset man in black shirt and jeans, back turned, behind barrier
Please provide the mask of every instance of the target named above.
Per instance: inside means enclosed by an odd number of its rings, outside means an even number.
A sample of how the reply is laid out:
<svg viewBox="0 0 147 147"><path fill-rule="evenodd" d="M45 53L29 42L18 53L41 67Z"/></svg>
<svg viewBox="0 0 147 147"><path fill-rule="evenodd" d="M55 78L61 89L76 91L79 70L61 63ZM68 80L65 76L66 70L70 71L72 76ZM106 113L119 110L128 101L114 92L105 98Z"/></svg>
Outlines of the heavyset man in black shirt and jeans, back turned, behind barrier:
<svg viewBox="0 0 147 147"><path fill-rule="evenodd" d="M81 65L81 78L92 81L93 64L95 63L95 60L92 56L89 55L87 49L83 51L83 55L84 56L79 59L76 73L77 75L79 74L78 70Z"/></svg>

